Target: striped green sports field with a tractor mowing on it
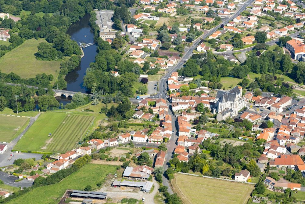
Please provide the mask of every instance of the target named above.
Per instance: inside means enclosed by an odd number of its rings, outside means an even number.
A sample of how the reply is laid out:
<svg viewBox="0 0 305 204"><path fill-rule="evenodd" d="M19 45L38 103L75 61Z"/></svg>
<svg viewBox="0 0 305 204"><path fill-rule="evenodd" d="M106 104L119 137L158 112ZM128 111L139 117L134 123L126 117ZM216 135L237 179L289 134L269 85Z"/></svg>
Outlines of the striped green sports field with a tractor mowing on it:
<svg viewBox="0 0 305 204"><path fill-rule="evenodd" d="M66 152L73 149L91 125L92 116L66 112L43 113L16 144L16 150ZM51 133L52 136L48 137ZM47 147L41 149L40 147Z"/></svg>

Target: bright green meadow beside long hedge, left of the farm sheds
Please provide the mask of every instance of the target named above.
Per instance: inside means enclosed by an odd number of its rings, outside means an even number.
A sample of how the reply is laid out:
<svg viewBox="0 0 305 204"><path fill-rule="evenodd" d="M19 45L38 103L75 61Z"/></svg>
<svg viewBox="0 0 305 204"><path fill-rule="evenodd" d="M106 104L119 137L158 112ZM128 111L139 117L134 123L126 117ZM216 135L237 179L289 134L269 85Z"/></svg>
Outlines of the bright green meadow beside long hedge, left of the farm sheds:
<svg viewBox="0 0 305 204"><path fill-rule="evenodd" d="M8 204L49 204L58 203L67 189L84 190L87 185L97 189L96 184L103 181L109 173L115 173L117 166L86 164L77 172L64 178L61 182L42 186L13 199ZM57 200L57 198L59 198Z"/></svg>

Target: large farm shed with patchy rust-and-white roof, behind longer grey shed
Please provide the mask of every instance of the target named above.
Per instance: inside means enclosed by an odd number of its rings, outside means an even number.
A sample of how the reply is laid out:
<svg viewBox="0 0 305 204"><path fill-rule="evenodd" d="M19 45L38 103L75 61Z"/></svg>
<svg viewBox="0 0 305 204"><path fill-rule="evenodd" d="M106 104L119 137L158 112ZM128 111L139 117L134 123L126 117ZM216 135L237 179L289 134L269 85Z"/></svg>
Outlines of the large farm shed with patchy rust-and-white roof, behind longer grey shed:
<svg viewBox="0 0 305 204"><path fill-rule="evenodd" d="M152 167L146 165L137 167L127 166L124 170L123 177L148 179L149 176L152 174L153 170L154 169Z"/></svg>

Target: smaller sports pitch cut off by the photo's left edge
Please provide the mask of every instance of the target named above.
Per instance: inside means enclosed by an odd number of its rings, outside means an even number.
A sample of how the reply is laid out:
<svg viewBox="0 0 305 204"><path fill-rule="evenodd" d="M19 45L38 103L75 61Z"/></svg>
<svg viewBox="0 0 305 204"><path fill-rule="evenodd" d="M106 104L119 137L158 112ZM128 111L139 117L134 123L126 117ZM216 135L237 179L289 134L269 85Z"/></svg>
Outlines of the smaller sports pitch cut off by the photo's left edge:
<svg viewBox="0 0 305 204"><path fill-rule="evenodd" d="M17 137L30 122L27 117L0 115L0 142L9 142Z"/></svg>

